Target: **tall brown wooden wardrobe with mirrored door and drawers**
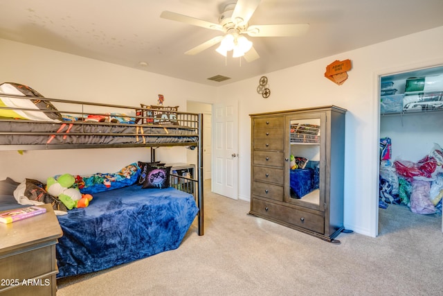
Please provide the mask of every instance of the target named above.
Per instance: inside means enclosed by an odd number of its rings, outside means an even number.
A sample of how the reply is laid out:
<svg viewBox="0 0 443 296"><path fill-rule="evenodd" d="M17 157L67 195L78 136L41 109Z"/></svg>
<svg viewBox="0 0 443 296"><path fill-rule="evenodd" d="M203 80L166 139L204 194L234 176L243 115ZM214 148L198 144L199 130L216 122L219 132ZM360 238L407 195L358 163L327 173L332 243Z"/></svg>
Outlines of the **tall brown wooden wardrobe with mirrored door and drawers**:
<svg viewBox="0 0 443 296"><path fill-rule="evenodd" d="M332 105L250 115L249 214L340 243L345 112Z"/></svg>

